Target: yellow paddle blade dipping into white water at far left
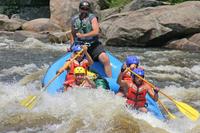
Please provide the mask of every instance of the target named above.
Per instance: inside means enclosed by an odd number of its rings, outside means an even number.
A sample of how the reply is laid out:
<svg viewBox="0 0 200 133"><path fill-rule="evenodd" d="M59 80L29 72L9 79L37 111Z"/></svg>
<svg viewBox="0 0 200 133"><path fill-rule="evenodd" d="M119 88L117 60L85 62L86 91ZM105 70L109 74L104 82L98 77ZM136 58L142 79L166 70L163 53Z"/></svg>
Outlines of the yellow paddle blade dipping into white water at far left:
<svg viewBox="0 0 200 133"><path fill-rule="evenodd" d="M20 101L20 104L28 109L32 109L36 104L37 96L28 96L26 99Z"/></svg>

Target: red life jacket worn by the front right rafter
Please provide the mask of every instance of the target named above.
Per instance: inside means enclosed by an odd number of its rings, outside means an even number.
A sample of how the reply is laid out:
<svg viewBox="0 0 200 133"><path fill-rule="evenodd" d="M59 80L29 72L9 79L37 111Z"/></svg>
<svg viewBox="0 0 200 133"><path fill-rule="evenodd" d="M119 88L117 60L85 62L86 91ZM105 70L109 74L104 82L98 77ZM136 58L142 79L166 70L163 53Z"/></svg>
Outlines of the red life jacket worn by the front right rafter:
<svg viewBox="0 0 200 133"><path fill-rule="evenodd" d="M146 84L143 83L140 87L137 87L134 83L131 88L128 88L127 103L132 105L134 108L145 107L147 88Z"/></svg>

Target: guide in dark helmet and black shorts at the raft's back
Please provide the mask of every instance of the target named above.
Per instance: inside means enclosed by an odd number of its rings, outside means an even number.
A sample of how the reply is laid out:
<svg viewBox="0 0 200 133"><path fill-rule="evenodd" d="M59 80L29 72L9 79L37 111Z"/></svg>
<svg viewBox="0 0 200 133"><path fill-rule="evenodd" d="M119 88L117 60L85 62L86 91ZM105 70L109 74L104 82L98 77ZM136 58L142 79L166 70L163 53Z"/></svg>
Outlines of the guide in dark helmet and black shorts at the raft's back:
<svg viewBox="0 0 200 133"><path fill-rule="evenodd" d="M72 18L71 45L76 44L76 42L90 43L91 46L88 48L88 53L94 61L100 61L104 65L106 75L112 77L110 60L99 41L99 23L97 17L91 13L90 3L88 1L81 1L79 12L79 14Z"/></svg>

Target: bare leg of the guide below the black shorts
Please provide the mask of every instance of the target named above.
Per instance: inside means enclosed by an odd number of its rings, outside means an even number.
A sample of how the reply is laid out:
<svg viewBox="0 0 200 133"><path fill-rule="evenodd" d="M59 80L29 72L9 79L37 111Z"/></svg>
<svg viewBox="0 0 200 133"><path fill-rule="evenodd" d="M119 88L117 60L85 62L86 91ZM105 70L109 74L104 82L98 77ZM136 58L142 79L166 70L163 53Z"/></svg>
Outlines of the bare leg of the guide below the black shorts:
<svg viewBox="0 0 200 133"><path fill-rule="evenodd" d="M110 65L110 59L106 55L105 52L102 52L98 56L99 61L104 65L104 71L108 77L112 77L112 70L111 70L111 65Z"/></svg>

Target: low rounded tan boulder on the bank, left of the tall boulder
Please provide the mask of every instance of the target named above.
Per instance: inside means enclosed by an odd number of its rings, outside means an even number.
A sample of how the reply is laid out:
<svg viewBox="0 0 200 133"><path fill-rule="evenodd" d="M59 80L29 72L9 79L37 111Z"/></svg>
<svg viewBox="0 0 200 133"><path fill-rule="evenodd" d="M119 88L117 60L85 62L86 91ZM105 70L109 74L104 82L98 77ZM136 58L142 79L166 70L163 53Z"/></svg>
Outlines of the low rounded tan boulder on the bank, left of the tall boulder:
<svg viewBox="0 0 200 133"><path fill-rule="evenodd" d="M48 18L39 18L28 21L22 25L22 29L34 32L61 31L60 26L52 23Z"/></svg>

